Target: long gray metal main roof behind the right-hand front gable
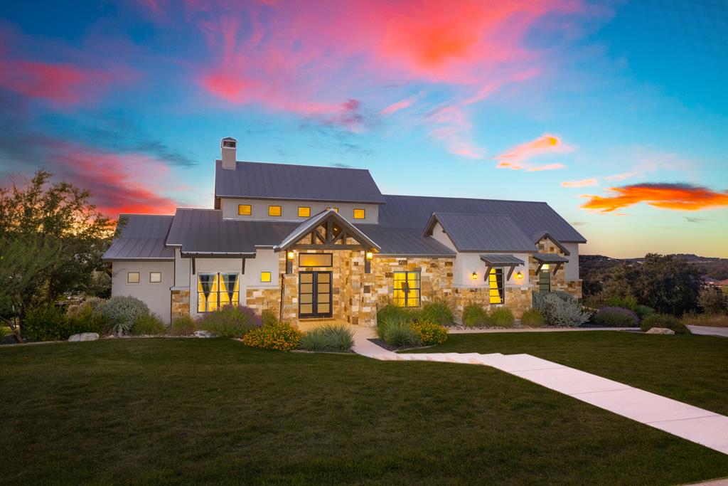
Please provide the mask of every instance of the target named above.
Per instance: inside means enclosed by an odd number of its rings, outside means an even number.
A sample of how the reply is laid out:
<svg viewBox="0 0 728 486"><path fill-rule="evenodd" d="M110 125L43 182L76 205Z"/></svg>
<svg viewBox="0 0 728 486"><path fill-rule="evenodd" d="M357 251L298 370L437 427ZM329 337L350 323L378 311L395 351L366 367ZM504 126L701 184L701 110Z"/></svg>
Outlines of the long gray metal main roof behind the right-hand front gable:
<svg viewBox="0 0 728 486"><path fill-rule="evenodd" d="M586 243L574 227L547 203L460 197L384 195L379 206L379 224L384 227L422 228L432 213L472 213L509 216L525 235L548 232L561 242ZM513 251L513 248L508 248Z"/></svg>

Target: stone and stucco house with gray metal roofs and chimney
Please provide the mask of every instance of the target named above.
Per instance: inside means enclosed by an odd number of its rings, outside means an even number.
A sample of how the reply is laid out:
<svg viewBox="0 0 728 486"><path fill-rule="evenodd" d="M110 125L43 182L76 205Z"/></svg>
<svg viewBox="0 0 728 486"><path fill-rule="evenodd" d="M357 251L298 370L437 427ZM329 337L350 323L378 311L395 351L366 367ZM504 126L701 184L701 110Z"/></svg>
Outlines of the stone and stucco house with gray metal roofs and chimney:
<svg viewBox="0 0 728 486"><path fill-rule="evenodd" d="M387 302L518 317L533 291L581 297L586 240L547 203L383 195L366 170L237 162L236 148L221 141L214 208L119 216L112 295L165 321L240 304L366 326Z"/></svg>

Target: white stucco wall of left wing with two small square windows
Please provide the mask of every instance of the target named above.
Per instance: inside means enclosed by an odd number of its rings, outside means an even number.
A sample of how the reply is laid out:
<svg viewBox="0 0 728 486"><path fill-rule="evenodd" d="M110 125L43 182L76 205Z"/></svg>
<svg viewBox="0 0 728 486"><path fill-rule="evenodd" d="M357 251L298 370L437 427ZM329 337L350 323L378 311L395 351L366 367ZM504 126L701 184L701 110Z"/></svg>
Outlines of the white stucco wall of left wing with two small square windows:
<svg viewBox="0 0 728 486"><path fill-rule="evenodd" d="M127 273L139 272L139 283L127 283ZM161 272L162 281L149 282L150 272ZM165 324L170 323L170 287L174 282L173 262L112 262L111 297L124 295L136 297L159 315Z"/></svg>

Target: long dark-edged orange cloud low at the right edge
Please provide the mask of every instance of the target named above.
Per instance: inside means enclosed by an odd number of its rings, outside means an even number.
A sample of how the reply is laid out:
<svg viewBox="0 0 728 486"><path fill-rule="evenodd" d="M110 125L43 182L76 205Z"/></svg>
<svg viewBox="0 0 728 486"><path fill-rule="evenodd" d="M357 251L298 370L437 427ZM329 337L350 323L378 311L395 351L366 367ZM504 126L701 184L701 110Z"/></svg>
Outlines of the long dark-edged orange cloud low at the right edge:
<svg viewBox="0 0 728 486"><path fill-rule="evenodd" d="M610 196L587 195L590 199L582 208L601 213L611 213L638 203L647 203L656 208L697 211L705 208L728 206L728 190L714 192L692 184L633 184L612 187Z"/></svg>

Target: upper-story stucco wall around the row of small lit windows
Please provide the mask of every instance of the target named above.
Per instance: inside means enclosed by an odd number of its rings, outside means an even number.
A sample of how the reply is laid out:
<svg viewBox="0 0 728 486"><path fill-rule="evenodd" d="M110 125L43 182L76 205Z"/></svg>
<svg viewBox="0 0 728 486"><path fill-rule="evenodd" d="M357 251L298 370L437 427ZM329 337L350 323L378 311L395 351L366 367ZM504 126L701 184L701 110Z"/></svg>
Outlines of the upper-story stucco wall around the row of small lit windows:
<svg viewBox="0 0 728 486"><path fill-rule="evenodd" d="M240 216L237 213L237 205L250 204L252 214ZM268 205L280 205L282 216L268 216ZM301 222L306 218L298 217L298 206L309 206L311 216L324 211L326 208L339 208L339 214L353 223L376 224L379 222L379 205L363 203L320 203L317 201L282 201L264 199L228 199L221 200L221 210L224 219L264 219L266 221L296 221ZM354 208L364 209L364 219L354 219Z"/></svg>

